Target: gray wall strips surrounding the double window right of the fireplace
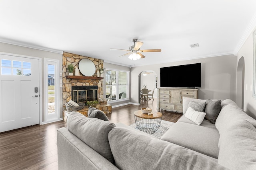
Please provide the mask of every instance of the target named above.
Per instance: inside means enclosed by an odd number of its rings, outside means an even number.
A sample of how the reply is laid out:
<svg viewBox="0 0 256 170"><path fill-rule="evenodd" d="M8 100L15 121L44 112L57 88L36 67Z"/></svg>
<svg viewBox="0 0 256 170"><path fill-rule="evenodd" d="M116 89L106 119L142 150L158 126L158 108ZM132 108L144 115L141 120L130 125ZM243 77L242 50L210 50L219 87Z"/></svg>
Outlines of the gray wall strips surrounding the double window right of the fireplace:
<svg viewBox="0 0 256 170"><path fill-rule="evenodd" d="M106 62L103 63L103 66L104 66L104 68L110 69L110 70L129 71L130 72L130 68L127 66L120 66L120 65L110 64L110 63L106 63ZM104 73L104 77L105 77L105 73ZM105 80L103 81L103 86L104 86L103 88L106 87ZM129 89L129 91L130 91L130 89ZM105 96L106 96L106 90L104 90L104 97ZM113 102L108 102L108 104L111 104L112 106L117 106L117 105L123 105L123 104L129 103L129 102L130 102L130 100L125 100L125 101L121 101L121 102L113 101Z"/></svg>

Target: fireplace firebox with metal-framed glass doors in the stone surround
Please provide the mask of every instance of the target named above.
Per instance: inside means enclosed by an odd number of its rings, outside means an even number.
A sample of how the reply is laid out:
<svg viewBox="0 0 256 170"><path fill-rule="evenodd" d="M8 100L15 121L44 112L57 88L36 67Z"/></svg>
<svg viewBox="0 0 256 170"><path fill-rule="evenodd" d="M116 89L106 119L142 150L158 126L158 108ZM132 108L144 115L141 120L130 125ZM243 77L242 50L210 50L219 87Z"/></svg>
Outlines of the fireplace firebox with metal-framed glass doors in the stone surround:
<svg viewBox="0 0 256 170"><path fill-rule="evenodd" d="M76 103L98 100L98 86L72 86L72 100Z"/></svg>

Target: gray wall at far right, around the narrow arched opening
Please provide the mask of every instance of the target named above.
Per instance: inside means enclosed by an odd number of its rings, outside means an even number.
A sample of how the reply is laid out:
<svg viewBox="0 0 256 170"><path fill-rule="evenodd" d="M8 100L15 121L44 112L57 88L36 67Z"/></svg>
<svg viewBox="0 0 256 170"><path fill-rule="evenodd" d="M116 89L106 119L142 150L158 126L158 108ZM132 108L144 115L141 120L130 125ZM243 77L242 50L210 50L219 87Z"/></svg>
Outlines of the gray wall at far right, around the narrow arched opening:
<svg viewBox="0 0 256 170"><path fill-rule="evenodd" d="M252 98L253 84L253 39L252 33L238 52L237 62L244 57L244 110L256 119L256 99ZM247 89L246 89L247 84Z"/></svg>

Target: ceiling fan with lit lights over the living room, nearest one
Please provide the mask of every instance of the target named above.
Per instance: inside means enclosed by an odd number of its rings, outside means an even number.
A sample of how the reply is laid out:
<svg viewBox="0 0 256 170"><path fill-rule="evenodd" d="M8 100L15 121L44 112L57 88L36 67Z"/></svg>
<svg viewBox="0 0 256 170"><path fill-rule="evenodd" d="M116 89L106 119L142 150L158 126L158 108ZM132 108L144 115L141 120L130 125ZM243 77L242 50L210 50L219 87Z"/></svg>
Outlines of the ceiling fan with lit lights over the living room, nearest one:
<svg viewBox="0 0 256 170"><path fill-rule="evenodd" d="M129 47L129 50L124 49L110 49L110 50L123 50L123 51L130 51L129 53L126 53L124 55L121 55L119 57L123 57L125 55L130 55L128 58L131 60L138 60L140 58L145 58L145 56L139 52L161 52L161 49L147 49L147 50L141 50L140 47L143 45L142 42L137 41L138 39L132 39L132 42L134 45Z"/></svg>

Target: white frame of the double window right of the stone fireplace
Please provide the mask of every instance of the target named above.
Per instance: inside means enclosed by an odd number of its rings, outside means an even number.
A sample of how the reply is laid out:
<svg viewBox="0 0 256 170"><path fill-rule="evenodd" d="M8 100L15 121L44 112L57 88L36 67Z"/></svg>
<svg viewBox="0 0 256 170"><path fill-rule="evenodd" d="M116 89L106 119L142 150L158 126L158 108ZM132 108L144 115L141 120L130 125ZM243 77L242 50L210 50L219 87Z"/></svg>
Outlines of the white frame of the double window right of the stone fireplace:
<svg viewBox="0 0 256 170"><path fill-rule="evenodd" d="M110 70L110 71L116 71L116 85L107 85L106 84L106 78L104 79L105 81L105 90L104 90L104 98L106 98L106 86L116 86L116 96L119 95L119 80L118 80L118 75L119 75L119 72L126 72L126 75L127 75L127 93L126 93L126 98L124 99L119 99L119 97L116 97L116 100L108 100L108 103L111 104L111 103L115 103L115 102L121 102L121 101L125 101L125 100L130 100L129 96L130 96L130 71L126 71L126 70L118 70L118 69L113 69L113 68L106 68L105 69L106 71L107 70ZM106 77L106 72L105 72L105 77Z"/></svg>

